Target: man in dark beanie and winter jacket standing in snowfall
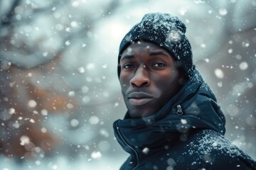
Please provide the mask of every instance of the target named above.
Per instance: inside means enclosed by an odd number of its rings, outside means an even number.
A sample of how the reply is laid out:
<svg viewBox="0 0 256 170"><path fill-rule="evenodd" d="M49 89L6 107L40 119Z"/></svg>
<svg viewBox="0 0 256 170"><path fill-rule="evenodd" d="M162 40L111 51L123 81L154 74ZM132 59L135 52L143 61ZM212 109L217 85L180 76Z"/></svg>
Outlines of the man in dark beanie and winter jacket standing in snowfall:
<svg viewBox="0 0 256 170"><path fill-rule="evenodd" d="M128 108L114 135L130 157L121 169L256 169L226 140L213 91L193 66L186 26L149 13L124 36L118 76Z"/></svg>

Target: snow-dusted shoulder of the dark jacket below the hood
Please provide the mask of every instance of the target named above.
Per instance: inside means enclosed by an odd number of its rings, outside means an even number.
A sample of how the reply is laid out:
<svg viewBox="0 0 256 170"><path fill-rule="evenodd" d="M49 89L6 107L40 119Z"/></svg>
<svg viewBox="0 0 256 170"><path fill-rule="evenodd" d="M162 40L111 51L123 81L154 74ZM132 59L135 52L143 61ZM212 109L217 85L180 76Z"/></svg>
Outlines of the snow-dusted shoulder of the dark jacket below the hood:
<svg viewBox="0 0 256 170"><path fill-rule="evenodd" d="M192 164L208 169L256 169L256 162L214 130L201 130L186 145Z"/></svg>

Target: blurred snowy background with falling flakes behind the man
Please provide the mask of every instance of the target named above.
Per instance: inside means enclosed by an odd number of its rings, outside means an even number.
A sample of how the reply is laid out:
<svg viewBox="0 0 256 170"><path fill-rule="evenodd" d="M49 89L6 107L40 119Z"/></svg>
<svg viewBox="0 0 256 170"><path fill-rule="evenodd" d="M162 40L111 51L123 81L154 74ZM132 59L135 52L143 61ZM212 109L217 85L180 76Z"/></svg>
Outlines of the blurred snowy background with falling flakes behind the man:
<svg viewBox="0 0 256 170"><path fill-rule="evenodd" d="M145 13L186 23L193 59L256 159L255 0L0 1L0 170L118 169L117 51Z"/></svg>

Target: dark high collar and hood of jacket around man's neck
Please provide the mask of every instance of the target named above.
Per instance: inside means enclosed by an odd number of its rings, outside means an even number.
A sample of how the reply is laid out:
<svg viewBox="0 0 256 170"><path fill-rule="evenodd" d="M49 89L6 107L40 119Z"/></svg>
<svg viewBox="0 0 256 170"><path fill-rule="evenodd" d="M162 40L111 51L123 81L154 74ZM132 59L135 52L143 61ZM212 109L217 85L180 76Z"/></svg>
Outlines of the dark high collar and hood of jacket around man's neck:
<svg viewBox="0 0 256 170"><path fill-rule="evenodd" d="M130 151L127 146L156 147L191 129L211 129L225 134L223 112L197 69L181 91L157 113L134 119L127 112L123 120L114 122L117 141L127 152Z"/></svg>

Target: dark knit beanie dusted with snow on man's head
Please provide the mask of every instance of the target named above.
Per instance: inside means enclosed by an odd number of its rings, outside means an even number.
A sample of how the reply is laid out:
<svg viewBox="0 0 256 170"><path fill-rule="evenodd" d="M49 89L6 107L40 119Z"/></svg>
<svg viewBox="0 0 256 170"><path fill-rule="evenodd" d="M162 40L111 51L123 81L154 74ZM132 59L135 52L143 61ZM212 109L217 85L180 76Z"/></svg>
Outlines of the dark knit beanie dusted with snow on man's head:
<svg viewBox="0 0 256 170"><path fill-rule="evenodd" d="M169 51L184 69L188 77L193 74L191 45L186 38L186 26L177 17L169 13L148 13L122 39L118 56L118 77L120 75L120 57L122 52L139 40L153 42Z"/></svg>

